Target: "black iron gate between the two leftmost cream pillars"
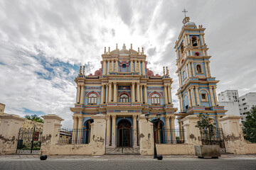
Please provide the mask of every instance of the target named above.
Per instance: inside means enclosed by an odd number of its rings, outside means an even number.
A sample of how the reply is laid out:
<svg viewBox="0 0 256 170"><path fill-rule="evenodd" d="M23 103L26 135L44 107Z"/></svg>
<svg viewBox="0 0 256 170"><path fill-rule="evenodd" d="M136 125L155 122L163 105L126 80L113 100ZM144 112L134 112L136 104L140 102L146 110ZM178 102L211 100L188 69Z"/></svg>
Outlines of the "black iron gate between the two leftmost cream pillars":
<svg viewBox="0 0 256 170"><path fill-rule="evenodd" d="M39 154L42 133L42 128L20 128L16 154Z"/></svg>

